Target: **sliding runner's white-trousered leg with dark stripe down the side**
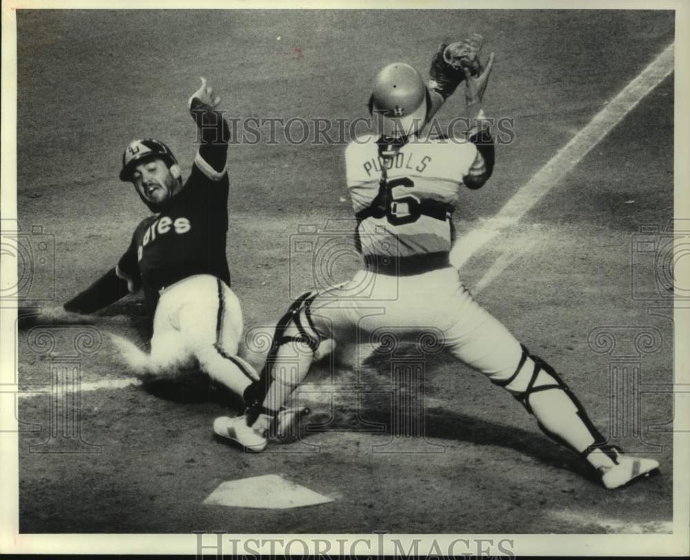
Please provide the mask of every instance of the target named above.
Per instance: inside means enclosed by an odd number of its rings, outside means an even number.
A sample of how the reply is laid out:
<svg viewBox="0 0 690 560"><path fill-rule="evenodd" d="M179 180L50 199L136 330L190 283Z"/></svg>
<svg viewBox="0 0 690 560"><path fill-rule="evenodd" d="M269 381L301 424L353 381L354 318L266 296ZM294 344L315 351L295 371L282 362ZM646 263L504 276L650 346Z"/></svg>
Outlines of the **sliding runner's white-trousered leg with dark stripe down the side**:
<svg viewBox="0 0 690 560"><path fill-rule="evenodd" d="M242 337L242 308L235 292L223 281L215 279L204 286L207 286L204 297L197 297L180 308L180 330L201 370L242 395L259 379L254 368L237 356Z"/></svg>

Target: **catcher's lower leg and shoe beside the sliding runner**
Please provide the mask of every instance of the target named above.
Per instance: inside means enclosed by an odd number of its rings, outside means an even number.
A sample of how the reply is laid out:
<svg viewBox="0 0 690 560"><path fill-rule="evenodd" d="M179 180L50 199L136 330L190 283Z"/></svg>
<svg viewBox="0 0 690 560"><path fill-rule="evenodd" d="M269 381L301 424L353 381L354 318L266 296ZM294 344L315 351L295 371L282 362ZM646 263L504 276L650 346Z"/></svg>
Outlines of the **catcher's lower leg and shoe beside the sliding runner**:
<svg viewBox="0 0 690 560"><path fill-rule="evenodd" d="M261 451L271 425L281 420L281 414L293 414L284 410L284 404L309 372L319 343L331 337L330 330L320 324L324 321L315 325L311 306L316 298L316 293L299 297L278 321L261 379L244 392L246 413L216 419L213 428L218 435L247 450Z"/></svg>

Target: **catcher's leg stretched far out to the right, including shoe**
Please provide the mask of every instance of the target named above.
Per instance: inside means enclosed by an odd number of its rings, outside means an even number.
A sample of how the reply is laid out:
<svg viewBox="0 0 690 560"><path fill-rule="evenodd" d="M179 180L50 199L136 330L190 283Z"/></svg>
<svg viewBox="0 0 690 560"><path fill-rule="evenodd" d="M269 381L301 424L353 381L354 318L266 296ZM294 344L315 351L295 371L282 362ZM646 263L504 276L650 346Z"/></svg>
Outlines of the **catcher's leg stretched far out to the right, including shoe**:
<svg viewBox="0 0 690 560"><path fill-rule="evenodd" d="M607 488L617 488L658 468L657 461L623 456L609 446L555 370L531 355L497 319L472 303L475 328L462 337L451 336L455 341L451 351L456 357L511 392L537 419L542 432L580 454L600 472Z"/></svg>

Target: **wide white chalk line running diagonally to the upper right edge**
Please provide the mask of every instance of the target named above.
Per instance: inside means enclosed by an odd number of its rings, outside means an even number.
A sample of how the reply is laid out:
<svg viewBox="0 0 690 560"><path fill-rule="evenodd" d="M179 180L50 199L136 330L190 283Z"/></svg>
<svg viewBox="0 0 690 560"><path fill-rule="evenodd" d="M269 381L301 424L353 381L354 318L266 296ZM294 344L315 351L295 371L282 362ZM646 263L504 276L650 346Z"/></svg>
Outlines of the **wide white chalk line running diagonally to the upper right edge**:
<svg viewBox="0 0 690 560"><path fill-rule="evenodd" d="M520 221L524 214L529 212L544 197L544 194L566 177L589 150L602 141L623 117L673 72L673 44L667 46L647 68L640 72L638 77L611 99L607 106L595 114L593 119L578 134L575 134L571 141L558 150L558 153L546 165L513 194L495 217L485 221L480 228L472 230L458 239L451 251L451 263L455 268L462 268L487 241L491 241L502 230ZM492 270L489 271L492 277L480 280L482 287L493 281L501 271L492 267Z"/></svg>

